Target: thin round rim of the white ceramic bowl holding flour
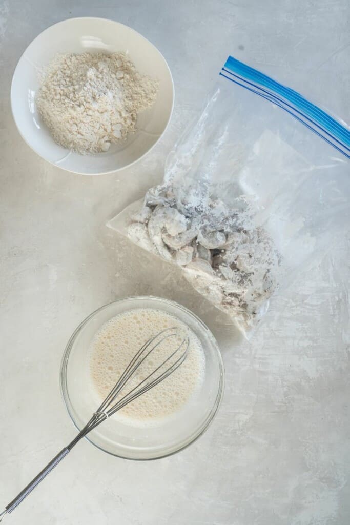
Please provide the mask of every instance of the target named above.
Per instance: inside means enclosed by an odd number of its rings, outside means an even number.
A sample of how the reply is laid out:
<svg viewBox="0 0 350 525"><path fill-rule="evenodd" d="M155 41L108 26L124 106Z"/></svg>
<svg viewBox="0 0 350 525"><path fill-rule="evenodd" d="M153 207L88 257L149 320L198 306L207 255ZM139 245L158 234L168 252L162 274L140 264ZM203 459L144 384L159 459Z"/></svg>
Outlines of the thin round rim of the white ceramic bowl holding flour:
<svg viewBox="0 0 350 525"><path fill-rule="evenodd" d="M44 157L43 155L41 155L31 144L28 143L27 139L24 137L21 129L20 129L20 125L18 124L17 120L16 120L16 117L15 117L15 111L14 111L14 95L13 95L13 89L14 89L14 81L15 81L15 76L16 76L16 73L17 73L17 69L19 67L19 64L20 62L22 61L22 59L25 58L25 54L27 53L27 49L29 46L31 46L31 44L33 44L35 42L35 40L37 40L39 37L41 37L46 31L49 31L50 29L52 29L52 27L54 26L58 26L60 24L64 24L66 22L75 22L77 20L102 20L103 22L110 22L112 24L117 24L119 26L123 26L123 27L126 27L128 29L130 29L132 31L132 33L136 33L136 35L138 36L141 36L142 38L144 38L160 55L161 57L163 58L164 60L164 63L165 63L165 66L166 66L166 69L168 71L168 74L169 74L169 77L170 77L170 80L171 80L171 86L172 86L172 107L171 107L171 110L169 112L169 117L168 117L168 120L165 124L165 128L164 130L162 131L162 133L159 135L159 137L157 138L157 140L155 141L154 144L152 144L151 148L148 149L147 151L145 151L145 153L143 153L139 158L135 159L134 161L130 162L129 164L125 164L125 166L122 166L122 167L119 167L119 168L116 168L115 170L108 170L108 171L99 171L99 172L96 172L96 173L85 173L83 171L75 171L75 170L70 170L68 169L67 167L64 167L64 166L60 166L58 165L56 162L52 162L50 161L49 159L47 159L46 157ZM169 123L171 121L171 118L173 116L173 111L174 111L174 103L175 103L175 86L174 86L174 79L173 79L173 75L172 75L172 72L171 72L171 69L169 68L169 64L167 62L167 60L165 59L163 53L161 53L161 51L154 45L152 44L152 42L146 38L145 36L143 36L141 33L139 33L139 31L136 31L136 29L133 29L132 27L130 26L127 26L126 24L122 24L121 22L118 22L117 20L112 20L111 18L103 18L101 16L76 16L76 17L72 17L72 18L65 18L63 20L60 20L59 22L56 22L55 24L51 24L50 26L48 26L46 29L44 29L43 31L41 31L41 33L39 33L35 38L33 38L33 40L30 41L30 43L27 45L27 47L25 48L25 50L23 51L22 55L19 57L18 61L17 61L17 64L16 64L16 67L14 69L14 72L13 72L13 75L12 75L12 80L11 80L11 87L10 87L10 106L11 106L11 112L12 112L12 118L16 124L16 128L18 130L18 133L20 134L20 136L22 137L22 139L24 140L24 142L29 146L29 148L34 151L34 153L36 153L40 159L43 159L45 160L46 162L49 162L52 166L56 166L58 167L59 169L61 170L64 170L64 171L67 171L68 173L74 173L76 175L85 175L85 176L98 176L98 175L109 175L111 173L118 173L122 170L126 170L126 168L129 168L131 166L133 166L134 164L136 164L137 162L141 161L141 159L144 159L146 155L148 155L154 148L154 146L161 140L161 138L163 137L164 133L166 132L166 130L168 129L168 126L169 126Z"/></svg>

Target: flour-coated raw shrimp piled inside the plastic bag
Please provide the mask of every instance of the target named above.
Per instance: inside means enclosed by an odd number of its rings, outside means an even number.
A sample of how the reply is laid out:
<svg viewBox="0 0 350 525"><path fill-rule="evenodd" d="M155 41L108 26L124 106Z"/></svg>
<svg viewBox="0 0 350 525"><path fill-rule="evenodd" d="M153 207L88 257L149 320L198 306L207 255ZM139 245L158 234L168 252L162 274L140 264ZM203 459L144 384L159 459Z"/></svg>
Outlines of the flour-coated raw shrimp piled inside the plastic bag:
<svg viewBox="0 0 350 525"><path fill-rule="evenodd" d="M247 198L229 207L200 184L185 192L156 186L130 218L129 238L182 266L191 285L244 333L259 321L278 286L280 254L268 232L254 224Z"/></svg>

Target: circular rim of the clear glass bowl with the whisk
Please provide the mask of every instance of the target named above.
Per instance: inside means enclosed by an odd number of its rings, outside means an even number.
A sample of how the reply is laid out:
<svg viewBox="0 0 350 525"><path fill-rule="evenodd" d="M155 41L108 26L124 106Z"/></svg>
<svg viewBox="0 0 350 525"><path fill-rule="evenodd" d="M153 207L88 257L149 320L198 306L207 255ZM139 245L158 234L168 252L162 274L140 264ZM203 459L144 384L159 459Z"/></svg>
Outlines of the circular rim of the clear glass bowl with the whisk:
<svg viewBox="0 0 350 525"><path fill-rule="evenodd" d="M182 444L180 444L179 446L176 446L175 448L173 447L173 449L170 450L169 452L164 453L164 454L162 453L160 455L156 455L156 456L153 456L153 457L135 457L135 458L133 458L133 457L130 457L130 456L123 456L122 454L114 454L110 450L106 450L102 446L94 443L93 440L90 439L88 435L84 437L93 446L99 448L100 450L102 450L103 452L105 452L107 454L110 454L111 456L122 458L122 459L129 459L131 461L152 461L152 460L155 460L155 459L162 459L162 458L165 458L165 457L168 457L168 456L172 456L173 454L176 454L176 453L180 452L181 450L184 450L189 445L194 443L201 435L203 435L204 432L207 430L207 428L210 426L211 422L213 422L213 419L214 419L214 417L215 417L215 415L216 415L216 413L217 413L217 411L218 411L218 409L219 409L219 407L221 405L222 397L224 396L224 391L225 391L225 366L224 366L224 361L222 360L222 356L221 356L221 352L220 352L218 343L217 343L213 333L211 333L211 331L207 327L207 325L198 316L196 316L196 314L194 312L192 312L191 310L189 310L188 308L186 308L182 304L179 304L179 303L177 303L177 302L175 302L175 301L173 301L171 299L166 299L166 298L163 298L163 297L157 297L157 296L151 296L151 295L128 296L128 297L123 297L121 299L116 299L116 300L111 301L111 302L109 302L107 304L103 304L103 306L101 306L100 308L97 308L92 313L90 313L89 316L87 316L85 319L83 319L83 321L81 321L81 323L78 325L78 327L75 329L75 331L73 331L71 337L69 338L69 341L68 341L68 343L66 345L65 351L63 352L63 356L62 356L62 360L61 360L61 364L60 364L60 392L61 392L63 403L65 404L66 410L68 412L68 415L69 415L73 425L77 428L78 431L80 431L81 428L78 426L77 422L75 421L75 419L74 419L74 417L73 417L73 415L71 413L72 404L70 403L70 399L69 399L69 395L68 395L68 388L67 388L67 364L68 364L69 354L70 354L70 351L72 349L73 343L75 342L77 335L80 333L80 330L84 327L84 325L86 325L87 322L92 317L94 317L94 315L97 314L98 312L100 312L100 311L110 307L111 304L114 304L114 303L120 303L120 302L124 302L124 301L129 301L129 300L137 301L137 300L140 300L140 299L151 299L151 300L155 299L155 300L165 301L165 302L168 302L168 303L172 304L172 306L175 306L176 308L179 308L179 309L183 310L185 313L187 313L190 316L192 316L209 333L210 338L211 338L211 343L213 343L213 347L214 347L214 349L216 351L216 357L217 357L218 365L219 365L219 386L218 386L218 392L217 392L217 395L216 395L213 407L211 408L208 416L205 418L204 422L200 425L200 427L195 430L195 432L193 432L186 439L184 439Z"/></svg>

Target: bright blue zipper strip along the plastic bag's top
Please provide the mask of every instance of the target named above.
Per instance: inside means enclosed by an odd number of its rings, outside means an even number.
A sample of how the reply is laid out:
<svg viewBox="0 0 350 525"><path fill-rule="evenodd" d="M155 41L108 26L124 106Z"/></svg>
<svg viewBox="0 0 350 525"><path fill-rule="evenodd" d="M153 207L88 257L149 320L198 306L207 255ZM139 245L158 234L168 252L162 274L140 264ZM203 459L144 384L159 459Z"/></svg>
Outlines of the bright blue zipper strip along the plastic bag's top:
<svg viewBox="0 0 350 525"><path fill-rule="evenodd" d="M234 57L228 57L220 75L284 109L350 159L350 131L300 93Z"/></svg>

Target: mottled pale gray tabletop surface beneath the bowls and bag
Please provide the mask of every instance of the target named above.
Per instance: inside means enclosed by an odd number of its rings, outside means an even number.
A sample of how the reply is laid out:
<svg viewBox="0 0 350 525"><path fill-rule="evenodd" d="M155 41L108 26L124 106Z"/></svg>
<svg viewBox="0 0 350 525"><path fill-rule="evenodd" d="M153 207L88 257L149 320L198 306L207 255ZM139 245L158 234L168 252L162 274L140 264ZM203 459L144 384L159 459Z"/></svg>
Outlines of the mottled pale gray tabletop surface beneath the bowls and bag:
<svg viewBox="0 0 350 525"><path fill-rule="evenodd" d="M350 522L349 242L272 301L251 344L179 272L105 227L160 181L166 152L230 53L349 121L347 0L0 4L0 502L74 429L59 394L63 348L114 298L152 293L203 317L227 387L208 432L171 458L133 463L82 442L13 516L17 525L347 525ZM73 16L130 25L173 72L172 123L149 158L115 175L52 167L19 137L9 107L16 62L40 31ZM2 504L0 505L0 507ZM1 510L1 509L0 509Z"/></svg>

